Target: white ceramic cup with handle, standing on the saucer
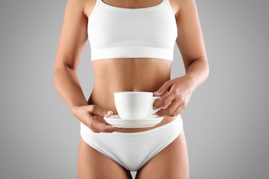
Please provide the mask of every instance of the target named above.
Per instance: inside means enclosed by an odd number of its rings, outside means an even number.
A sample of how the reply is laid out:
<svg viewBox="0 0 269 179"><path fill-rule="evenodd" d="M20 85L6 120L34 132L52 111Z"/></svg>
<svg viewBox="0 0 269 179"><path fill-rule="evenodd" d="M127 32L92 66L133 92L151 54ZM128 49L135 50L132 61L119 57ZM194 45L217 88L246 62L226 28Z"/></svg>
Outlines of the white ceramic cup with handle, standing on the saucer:
<svg viewBox="0 0 269 179"><path fill-rule="evenodd" d="M152 92L115 92L114 101L121 119L145 119L147 116L159 112L152 109L153 103L159 96Z"/></svg>

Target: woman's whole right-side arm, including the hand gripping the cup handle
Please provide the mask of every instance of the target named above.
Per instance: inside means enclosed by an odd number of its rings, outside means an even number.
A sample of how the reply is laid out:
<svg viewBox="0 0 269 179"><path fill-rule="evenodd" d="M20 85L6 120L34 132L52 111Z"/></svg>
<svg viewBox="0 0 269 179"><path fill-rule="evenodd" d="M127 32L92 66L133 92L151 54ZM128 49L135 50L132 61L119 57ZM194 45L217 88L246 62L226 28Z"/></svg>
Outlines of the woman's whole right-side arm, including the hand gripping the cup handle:
<svg viewBox="0 0 269 179"><path fill-rule="evenodd" d="M192 92L208 77L209 67L203 34L199 23L195 0L176 0L177 45L181 52L186 75L167 81L155 96L162 99L155 102L155 107L168 106L157 114L177 116L188 105ZM174 1L175 2L175 1Z"/></svg>

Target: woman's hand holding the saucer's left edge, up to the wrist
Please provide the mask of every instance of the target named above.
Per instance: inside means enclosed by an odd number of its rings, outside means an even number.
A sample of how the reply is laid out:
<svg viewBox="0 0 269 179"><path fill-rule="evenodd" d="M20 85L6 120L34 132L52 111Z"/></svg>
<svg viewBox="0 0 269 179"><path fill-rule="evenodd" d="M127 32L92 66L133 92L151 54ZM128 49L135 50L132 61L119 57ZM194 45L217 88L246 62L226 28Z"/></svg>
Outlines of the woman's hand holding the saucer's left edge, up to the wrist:
<svg viewBox="0 0 269 179"><path fill-rule="evenodd" d="M118 127L109 125L106 123L106 120L103 119L105 116L112 116L113 112L101 109L96 105L75 107L75 109L72 109L72 112L81 123L89 127L93 132L113 132L119 129Z"/></svg>

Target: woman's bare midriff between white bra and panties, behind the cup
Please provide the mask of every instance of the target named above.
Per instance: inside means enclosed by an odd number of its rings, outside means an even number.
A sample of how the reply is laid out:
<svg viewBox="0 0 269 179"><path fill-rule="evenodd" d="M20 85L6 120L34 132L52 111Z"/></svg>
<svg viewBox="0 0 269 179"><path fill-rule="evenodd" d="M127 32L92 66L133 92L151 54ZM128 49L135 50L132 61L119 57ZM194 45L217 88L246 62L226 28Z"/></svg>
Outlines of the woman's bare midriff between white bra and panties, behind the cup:
<svg viewBox="0 0 269 179"><path fill-rule="evenodd" d="M161 59L103 59L92 62L94 87L88 100L117 114L114 92L157 92L170 80L172 61ZM154 127L124 128L120 132L146 131L169 123L174 118L164 116Z"/></svg>

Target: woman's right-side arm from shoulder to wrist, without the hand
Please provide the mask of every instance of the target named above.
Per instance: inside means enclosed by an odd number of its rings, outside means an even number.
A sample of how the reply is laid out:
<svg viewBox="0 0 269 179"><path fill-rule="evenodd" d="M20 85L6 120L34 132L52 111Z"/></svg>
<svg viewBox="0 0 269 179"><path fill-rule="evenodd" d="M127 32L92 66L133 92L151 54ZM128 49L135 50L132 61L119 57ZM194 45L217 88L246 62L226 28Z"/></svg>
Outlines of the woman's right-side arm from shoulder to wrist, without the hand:
<svg viewBox="0 0 269 179"><path fill-rule="evenodd" d="M199 23L195 0L181 0L177 14L177 45L181 52L186 75L195 80L195 88L208 77L209 67L203 34Z"/></svg>

